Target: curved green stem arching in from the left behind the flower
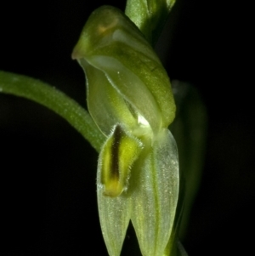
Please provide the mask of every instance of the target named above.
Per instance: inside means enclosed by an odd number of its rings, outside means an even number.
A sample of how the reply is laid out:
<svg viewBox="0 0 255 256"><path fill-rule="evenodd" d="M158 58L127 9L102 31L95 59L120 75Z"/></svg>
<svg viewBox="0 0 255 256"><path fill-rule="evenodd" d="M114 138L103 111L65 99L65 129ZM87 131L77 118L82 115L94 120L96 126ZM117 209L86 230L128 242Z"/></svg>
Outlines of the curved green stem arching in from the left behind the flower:
<svg viewBox="0 0 255 256"><path fill-rule="evenodd" d="M0 71L0 93L14 94L47 106L64 117L97 151L105 141L105 136L81 105L45 82Z"/></svg>

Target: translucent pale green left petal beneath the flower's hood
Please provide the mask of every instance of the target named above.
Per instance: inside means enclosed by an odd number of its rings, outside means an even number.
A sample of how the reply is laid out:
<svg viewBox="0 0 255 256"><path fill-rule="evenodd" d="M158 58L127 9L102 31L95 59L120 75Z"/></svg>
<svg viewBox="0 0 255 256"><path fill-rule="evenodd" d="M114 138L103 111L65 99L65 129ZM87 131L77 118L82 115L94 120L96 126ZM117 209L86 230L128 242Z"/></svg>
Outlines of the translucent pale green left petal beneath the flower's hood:
<svg viewBox="0 0 255 256"><path fill-rule="evenodd" d="M136 118L104 72L89 65L84 59L79 62L86 73L88 111L99 129L108 136L116 123L125 123L129 128L135 127Z"/></svg>

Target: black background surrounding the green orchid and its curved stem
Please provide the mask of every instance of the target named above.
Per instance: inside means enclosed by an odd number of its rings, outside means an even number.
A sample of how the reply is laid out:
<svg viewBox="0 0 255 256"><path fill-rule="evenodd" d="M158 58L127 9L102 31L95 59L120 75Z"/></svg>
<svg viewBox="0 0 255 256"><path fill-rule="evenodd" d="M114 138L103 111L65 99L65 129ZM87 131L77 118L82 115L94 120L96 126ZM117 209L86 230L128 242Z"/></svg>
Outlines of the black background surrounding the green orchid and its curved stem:
<svg viewBox="0 0 255 256"><path fill-rule="evenodd" d="M102 4L124 9L125 1L4 1L0 70L39 78L86 107L84 75L71 51ZM190 256L253 251L248 9L233 1L177 0L164 34L169 76L197 88L208 115L201 186L183 241ZM52 111L11 95L0 94L0 134L0 255L107 255L96 151ZM134 255L132 239L130 230L123 255Z"/></svg>

